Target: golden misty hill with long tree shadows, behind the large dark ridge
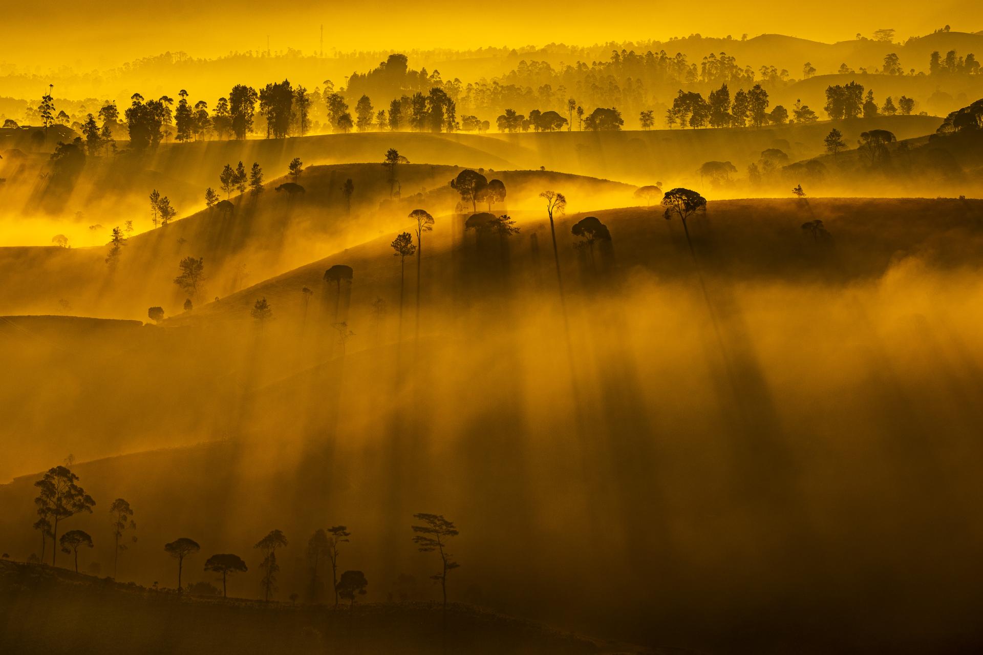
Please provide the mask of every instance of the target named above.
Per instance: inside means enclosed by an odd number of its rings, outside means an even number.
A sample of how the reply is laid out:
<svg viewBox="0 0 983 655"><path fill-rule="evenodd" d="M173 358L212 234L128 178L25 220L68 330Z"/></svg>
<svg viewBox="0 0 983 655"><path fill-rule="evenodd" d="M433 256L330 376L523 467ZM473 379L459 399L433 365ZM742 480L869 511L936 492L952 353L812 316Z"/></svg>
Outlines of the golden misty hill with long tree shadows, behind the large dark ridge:
<svg viewBox="0 0 983 655"><path fill-rule="evenodd" d="M188 296L173 281L183 258L204 260L206 283L194 298L196 304L228 295L379 234L391 240L409 229L407 215L415 208L452 210L460 196L449 182L460 170L402 164L396 182L401 195L390 199L388 172L380 164L311 166L298 180L304 193L276 192L286 179L271 180L259 198L234 198L232 210L205 209L133 236L116 268L106 261L106 246L0 248L0 271L11 282L0 292L0 311L64 313L68 303L72 313L89 316L143 319L150 306L173 314ZM621 183L549 171L481 170L505 184L504 207L510 209L539 207L539 193L557 186L577 190L571 208L626 205L634 191ZM343 192L348 179L354 184L350 208Z"/></svg>

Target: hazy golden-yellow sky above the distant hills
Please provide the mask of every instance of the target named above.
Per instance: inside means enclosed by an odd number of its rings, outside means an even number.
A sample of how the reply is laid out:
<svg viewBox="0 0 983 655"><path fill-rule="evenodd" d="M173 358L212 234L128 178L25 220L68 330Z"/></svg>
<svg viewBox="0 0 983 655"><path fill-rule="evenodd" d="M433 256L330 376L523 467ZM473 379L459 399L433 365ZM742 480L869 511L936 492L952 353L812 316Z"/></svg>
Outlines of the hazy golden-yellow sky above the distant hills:
<svg viewBox="0 0 983 655"><path fill-rule="evenodd" d="M323 0L172 0L166 5L123 4L111 13L78 12L66 5L60 13L53 8L46 20L32 12L8 13L0 32L0 62L28 67L103 67L166 50L214 57L230 50L264 49L267 35L273 50L293 47L311 54L318 49L321 24L328 53L332 48L590 45L694 32L734 37L778 32L837 41L881 28L895 29L900 39L945 25L959 31L983 30L983 3L942 0L918 3L917 10L905 10L905 4L829 0L812 5L811 13L765 0L705 2L698 11L685 3L625 0L617 11L608 13L599 12L599 5L589 0L498 0L493 4L430 0L372 6Z"/></svg>

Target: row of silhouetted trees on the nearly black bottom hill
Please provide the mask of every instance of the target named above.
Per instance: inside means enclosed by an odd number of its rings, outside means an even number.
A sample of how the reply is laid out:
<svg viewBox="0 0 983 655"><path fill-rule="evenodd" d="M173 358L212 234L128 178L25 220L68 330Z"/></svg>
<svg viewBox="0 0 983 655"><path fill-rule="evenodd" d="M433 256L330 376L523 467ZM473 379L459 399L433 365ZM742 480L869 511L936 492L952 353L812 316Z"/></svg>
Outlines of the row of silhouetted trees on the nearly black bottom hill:
<svg viewBox="0 0 983 655"><path fill-rule="evenodd" d="M69 465L71 461L67 462ZM86 493L79 484L79 476L72 472L68 465L55 466L34 483L37 489L37 497L34 499L36 506L37 520L34 522L34 529L41 533L40 555L31 555L30 563L40 563L44 560L47 553L47 542L52 542L51 547L51 566L57 565L57 556L60 550L62 553L73 556L74 568L79 571L79 551L81 549L91 549L94 547L92 536L84 530L69 530L59 536L59 527L64 522L79 513L92 513L95 501ZM134 520L134 510L130 503L125 499L118 498L109 506L110 530L113 548L113 577L115 578L119 568L119 556L127 550L127 537L130 543L135 543L137 537L134 534L137 523ZM436 553L439 559L437 572L431 578L440 584L443 597L443 608L446 612L447 606L447 576L448 573L457 568L457 562L447 551L450 539L458 535L457 527L453 521L447 520L441 514L417 513L413 515L416 522L411 524L412 541L421 553ZM307 561L310 566L309 586L307 598L312 603L322 602L322 563L327 563L331 568L331 589L334 594L334 604L339 601L347 600L350 607L354 608L355 599L359 595L366 594L368 579L360 570L345 570L338 574L339 561L343 544L351 542L352 533L345 525L334 525L326 530L318 528L311 535L307 546ZM277 564L277 551L289 545L286 535L281 530L270 530L260 539L254 548L260 551L260 594L266 602L272 600L277 591L277 578L280 566ZM164 552L177 561L178 593L185 591L183 583L183 573L185 561L196 556L201 552L201 545L189 537L179 537L174 541L164 544ZM217 553L210 556L204 563L204 570L218 573L222 580L222 597L227 597L227 580L230 575L245 573L249 570L242 557L231 553ZM154 582L156 586L156 582ZM193 589L193 585L188 585ZM296 599L297 594L291 594L292 599Z"/></svg>

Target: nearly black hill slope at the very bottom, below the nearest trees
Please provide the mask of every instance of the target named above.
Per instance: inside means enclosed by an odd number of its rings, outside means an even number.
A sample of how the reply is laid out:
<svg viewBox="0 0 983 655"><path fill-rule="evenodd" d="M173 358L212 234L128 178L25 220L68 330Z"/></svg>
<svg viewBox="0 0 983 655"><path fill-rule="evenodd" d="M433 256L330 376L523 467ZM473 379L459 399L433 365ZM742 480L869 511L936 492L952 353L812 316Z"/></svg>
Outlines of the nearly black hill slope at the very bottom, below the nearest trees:
<svg viewBox="0 0 983 655"><path fill-rule="evenodd" d="M446 641L435 603L305 606L217 597L180 597L48 566L0 562L0 646L60 652L65 643L104 653L668 653L561 632L462 604L447 613ZM683 651L673 649L674 653Z"/></svg>

